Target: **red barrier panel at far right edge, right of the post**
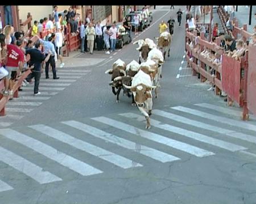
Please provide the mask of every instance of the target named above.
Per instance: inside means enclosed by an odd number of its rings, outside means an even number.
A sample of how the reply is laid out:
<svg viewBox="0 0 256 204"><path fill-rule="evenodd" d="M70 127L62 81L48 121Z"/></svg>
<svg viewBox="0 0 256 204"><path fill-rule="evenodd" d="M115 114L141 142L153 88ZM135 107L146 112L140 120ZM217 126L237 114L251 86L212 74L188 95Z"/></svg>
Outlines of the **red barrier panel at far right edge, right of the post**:
<svg viewBox="0 0 256 204"><path fill-rule="evenodd" d="M253 114L256 114L256 46L249 45L248 73L247 73L247 105Z"/></svg>

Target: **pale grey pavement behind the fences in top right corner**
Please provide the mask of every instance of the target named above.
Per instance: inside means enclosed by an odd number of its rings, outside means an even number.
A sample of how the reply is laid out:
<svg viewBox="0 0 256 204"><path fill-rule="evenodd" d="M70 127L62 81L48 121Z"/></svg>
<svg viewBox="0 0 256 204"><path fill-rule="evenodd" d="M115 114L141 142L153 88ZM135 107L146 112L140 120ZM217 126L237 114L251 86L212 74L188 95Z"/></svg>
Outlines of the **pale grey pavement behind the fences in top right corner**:
<svg viewBox="0 0 256 204"><path fill-rule="evenodd" d="M250 6L238 6L237 12L235 11L235 17L238 20L238 27L243 27L243 24L247 24L247 31L253 33L254 25L256 25L256 19L254 14L256 13L256 6L253 6L251 12L251 25L249 25Z"/></svg>

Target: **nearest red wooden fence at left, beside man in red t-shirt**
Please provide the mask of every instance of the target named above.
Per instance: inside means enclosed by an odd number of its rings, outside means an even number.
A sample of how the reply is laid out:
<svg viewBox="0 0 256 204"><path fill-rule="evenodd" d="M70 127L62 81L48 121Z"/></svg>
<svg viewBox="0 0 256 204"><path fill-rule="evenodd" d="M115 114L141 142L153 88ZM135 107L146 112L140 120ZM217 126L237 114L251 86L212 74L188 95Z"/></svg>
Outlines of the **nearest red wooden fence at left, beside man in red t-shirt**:
<svg viewBox="0 0 256 204"><path fill-rule="evenodd" d="M19 77L19 79L16 81L16 83L14 84L13 87L13 97L18 97L18 93L19 93L19 88L22 85L22 82L24 79L27 78L28 74L31 73L31 70L28 69L27 71L24 71L24 73L22 73L22 75ZM0 90L4 90L5 89L5 83L4 80L0 81ZM7 104L7 102L9 101L10 96L3 96L2 94L0 94L0 116L5 116L5 105Z"/></svg>

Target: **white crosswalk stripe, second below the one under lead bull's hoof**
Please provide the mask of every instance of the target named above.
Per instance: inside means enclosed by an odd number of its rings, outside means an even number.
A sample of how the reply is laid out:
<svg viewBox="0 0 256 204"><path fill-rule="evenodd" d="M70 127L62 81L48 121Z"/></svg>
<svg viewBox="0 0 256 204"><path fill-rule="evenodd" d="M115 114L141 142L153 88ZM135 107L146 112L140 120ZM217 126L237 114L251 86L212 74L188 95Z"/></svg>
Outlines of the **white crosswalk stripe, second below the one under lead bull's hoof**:
<svg viewBox="0 0 256 204"><path fill-rule="evenodd" d="M180 158L177 158L176 156L172 156L172 155L166 154L164 152L155 150L154 148L146 147L146 146L140 145L138 143L131 142L127 139L117 137L116 135L106 133L105 131L102 131L100 129L94 128L94 127L86 125L86 124L82 124L81 122L67 121L67 122L62 122L62 123L65 125L69 125L72 128L76 128L81 131L84 131L85 133L93 135L94 137L104 139L105 141L114 143L115 145L127 148L129 150L133 150L135 152L138 152L139 154L148 156L152 159L158 160L163 163L172 162L172 161L180 159Z"/></svg>

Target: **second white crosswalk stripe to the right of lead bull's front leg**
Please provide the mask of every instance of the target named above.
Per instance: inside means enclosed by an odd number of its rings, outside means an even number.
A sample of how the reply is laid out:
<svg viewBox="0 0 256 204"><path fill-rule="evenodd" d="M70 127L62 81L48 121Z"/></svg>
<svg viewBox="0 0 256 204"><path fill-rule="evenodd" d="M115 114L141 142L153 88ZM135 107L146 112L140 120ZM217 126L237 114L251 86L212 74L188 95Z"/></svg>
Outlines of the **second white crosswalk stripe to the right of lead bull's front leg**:
<svg viewBox="0 0 256 204"><path fill-rule="evenodd" d="M247 122L244 122L244 121L237 121L237 120L233 120L233 119L226 118L226 117L215 116L214 114L209 114L209 113L205 113L203 111L197 111L196 109L185 108L185 107L181 107L181 106L171 107L171 108L175 109L177 111L181 111L181 112L193 114L195 116L207 118L209 120L214 120L214 121L217 121L217 122L220 122L223 124L228 124L228 125L237 126L237 127L247 129L247 130L256 131L255 125L248 124Z"/></svg>

